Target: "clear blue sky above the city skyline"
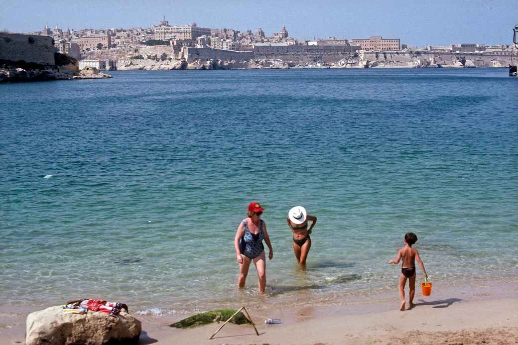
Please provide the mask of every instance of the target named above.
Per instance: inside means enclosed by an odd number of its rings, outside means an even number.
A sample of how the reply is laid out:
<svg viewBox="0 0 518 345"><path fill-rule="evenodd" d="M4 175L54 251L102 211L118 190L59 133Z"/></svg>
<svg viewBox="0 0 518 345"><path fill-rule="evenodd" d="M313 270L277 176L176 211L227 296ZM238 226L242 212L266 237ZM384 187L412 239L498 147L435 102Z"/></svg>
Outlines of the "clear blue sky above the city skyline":
<svg viewBox="0 0 518 345"><path fill-rule="evenodd" d="M199 6L190 5L199 4ZM175 0L0 0L0 30L147 27L163 16L171 25L196 22L267 35L286 25L299 39L401 38L404 44L510 44L518 24L518 0L508 1L175 1Z"/></svg>

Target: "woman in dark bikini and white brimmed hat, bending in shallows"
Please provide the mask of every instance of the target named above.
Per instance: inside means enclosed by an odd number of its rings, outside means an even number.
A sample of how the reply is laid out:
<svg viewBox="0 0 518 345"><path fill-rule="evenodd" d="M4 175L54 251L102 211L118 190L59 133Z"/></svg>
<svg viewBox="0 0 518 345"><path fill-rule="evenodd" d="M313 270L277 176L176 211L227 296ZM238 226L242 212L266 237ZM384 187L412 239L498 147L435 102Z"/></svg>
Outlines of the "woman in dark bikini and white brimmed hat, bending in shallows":
<svg viewBox="0 0 518 345"><path fill-rule="evenodd" d="M302 206L295 206L288 212L286 219L288 226L293 233L293 251L300 265L306 265L309 249L311 248L311 229L316 224L316 217L306 213ZM308 229L308 221L311 226Z"/></svg>

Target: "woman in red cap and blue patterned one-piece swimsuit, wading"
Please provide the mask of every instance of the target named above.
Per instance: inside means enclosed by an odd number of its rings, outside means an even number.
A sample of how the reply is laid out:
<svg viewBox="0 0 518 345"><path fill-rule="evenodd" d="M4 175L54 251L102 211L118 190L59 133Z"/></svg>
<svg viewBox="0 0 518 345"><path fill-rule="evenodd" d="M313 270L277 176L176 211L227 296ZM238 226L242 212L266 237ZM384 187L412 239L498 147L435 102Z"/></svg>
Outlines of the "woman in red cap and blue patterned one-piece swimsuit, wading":
<svg viewBox="0 0 518 345"><path fill-rule="evenodd" d="M269 249L268 258L274 257L270 238L266 231L266 223L261 219L264 208L259 203L248 205L248 217L243 219L237 228L234 237L237 262L239 263L239 278L237 285L241 289L247 280L250 262L254 262L257 269L259 292L264 293L266 287L266 258L264 254L263 239Z"/></svg>

